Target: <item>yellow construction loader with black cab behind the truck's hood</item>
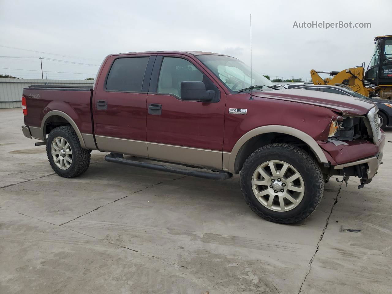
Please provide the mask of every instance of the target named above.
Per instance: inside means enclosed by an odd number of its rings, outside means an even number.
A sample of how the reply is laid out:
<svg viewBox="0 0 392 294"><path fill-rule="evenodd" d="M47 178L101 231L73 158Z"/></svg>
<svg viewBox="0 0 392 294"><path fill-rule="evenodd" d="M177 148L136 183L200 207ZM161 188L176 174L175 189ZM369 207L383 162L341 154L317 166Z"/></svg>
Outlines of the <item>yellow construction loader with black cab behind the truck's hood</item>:
<svg viewBox="0 0 392 294"><path fill-rule="evenodd" d="M392 35L374 38L374 54L365 72L365 64L343 71L316 71L310 76L314 85L343 84L367 97L392 99ZM322 79L319 73L327 73L332 78Z"/></svg>

